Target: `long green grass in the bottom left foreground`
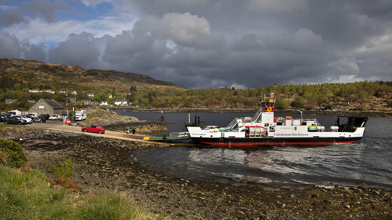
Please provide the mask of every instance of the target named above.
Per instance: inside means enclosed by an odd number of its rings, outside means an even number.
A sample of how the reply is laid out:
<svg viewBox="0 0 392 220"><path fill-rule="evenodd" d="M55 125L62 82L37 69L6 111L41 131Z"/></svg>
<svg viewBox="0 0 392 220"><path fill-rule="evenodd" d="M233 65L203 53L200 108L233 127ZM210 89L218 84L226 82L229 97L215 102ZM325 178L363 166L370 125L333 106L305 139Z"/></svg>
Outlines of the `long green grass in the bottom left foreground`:
<svg viewBox="0 0 392 220"><path fill-rule="evenodd" d="M155 219L125 193L81 195L51 185L38 170L0 166L0 219Z"/></svg>

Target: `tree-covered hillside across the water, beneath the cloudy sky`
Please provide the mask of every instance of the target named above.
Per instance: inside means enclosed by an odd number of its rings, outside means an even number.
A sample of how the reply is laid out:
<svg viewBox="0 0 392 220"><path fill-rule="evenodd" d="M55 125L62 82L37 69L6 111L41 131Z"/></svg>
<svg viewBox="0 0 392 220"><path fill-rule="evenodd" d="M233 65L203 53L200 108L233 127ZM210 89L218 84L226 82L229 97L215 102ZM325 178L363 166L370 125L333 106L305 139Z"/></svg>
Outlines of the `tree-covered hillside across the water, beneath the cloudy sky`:
<svg viewBox="0 0 392 220"><path fill-rule="evenodd" d="M83 100L89 99L111 105L116 100L126 100L132 103L127 108L257 108L261 97L273 88L271 85L252 89L187 89L139 73L17 59L0 59L0 73L2 111L28 110L34 104L28 100L40 98L71 106L81 105ZM33 89L38 92L31 92ZM72 91L76 94L71 94ZM70 102L66 94L76 101ZM279 110L392 110L392 82L278 85L276 94L276 109ZM5 104L6 100L16 102Z"/></svg>

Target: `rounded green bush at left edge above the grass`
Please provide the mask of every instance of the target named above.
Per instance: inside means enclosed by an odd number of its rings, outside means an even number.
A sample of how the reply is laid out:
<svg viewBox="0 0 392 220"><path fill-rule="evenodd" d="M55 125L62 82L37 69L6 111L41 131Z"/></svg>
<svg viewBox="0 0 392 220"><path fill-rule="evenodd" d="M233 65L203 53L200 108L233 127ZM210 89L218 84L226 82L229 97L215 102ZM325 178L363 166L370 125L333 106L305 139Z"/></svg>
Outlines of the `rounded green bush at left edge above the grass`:
<svg viewBox="0 0 392 220"><path fill-rule="evenodd" d="M12 140L0 138L0 163L13 167L21 168L28 161L21 145Z"/></svg>

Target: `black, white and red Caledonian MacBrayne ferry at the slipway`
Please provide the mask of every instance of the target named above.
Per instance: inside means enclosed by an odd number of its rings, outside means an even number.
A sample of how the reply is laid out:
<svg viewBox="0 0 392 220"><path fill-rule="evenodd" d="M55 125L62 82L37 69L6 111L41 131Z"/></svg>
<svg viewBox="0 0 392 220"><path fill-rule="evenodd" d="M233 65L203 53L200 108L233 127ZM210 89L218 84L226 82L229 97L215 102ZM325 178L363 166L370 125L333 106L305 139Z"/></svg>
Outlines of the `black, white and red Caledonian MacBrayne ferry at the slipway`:
<svg viewBox="0 0 392 220"><path fill-rule="evenodd" d="M316 118L274 117L276 84L253 117L235 118L227 127L202 129L187 126L194 142L222 146L317 146L360 141L368 117L337 116L334 126L325 128Z"/></svg>

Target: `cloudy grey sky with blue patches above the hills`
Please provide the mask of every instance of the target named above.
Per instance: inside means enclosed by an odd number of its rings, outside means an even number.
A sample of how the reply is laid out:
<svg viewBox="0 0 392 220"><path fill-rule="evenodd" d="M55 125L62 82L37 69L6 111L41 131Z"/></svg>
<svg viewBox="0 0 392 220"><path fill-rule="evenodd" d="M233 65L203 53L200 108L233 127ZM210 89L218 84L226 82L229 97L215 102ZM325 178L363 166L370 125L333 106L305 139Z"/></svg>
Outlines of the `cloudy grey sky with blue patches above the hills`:
<svg viewBox="0 0 392 220"><path fill-rule="evenodd" d="M0 0L0 58L185 88L392 81L392 0Z"/></svg>

